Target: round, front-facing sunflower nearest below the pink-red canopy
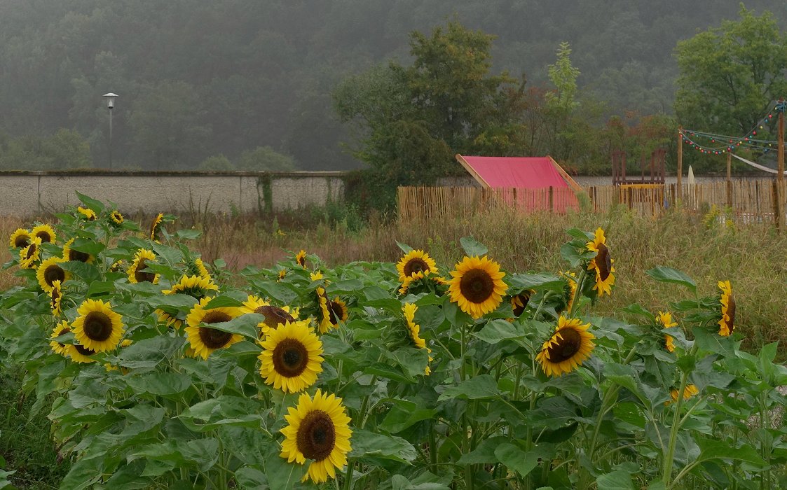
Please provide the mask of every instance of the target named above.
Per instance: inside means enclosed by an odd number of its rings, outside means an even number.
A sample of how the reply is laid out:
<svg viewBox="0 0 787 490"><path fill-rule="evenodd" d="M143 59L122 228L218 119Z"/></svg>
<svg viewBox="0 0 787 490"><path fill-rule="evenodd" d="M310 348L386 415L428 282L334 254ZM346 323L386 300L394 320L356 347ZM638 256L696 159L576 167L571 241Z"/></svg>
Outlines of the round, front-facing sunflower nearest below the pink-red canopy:
<svg viewBox="0 0 787 490"><path fill-rule="evenodd" d="M464 257L456 263L451 275L448 289L451 301L474 319L497 308L508 288L503 282L505 273L500 271L500 264L486 256L480 259L478 256Z"/></svg>

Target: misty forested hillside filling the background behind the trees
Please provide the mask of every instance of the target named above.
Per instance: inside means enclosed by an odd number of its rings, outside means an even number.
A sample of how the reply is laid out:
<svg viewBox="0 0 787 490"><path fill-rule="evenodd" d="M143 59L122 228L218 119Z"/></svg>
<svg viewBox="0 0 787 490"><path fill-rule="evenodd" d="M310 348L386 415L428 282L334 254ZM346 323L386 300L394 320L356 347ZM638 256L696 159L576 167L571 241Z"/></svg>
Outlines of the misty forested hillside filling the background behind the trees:
<svg viewBox="0 0 787 490"><path fill-rule="evenodd" d="M745 4L784 27L787 3ZM547 66L569 42L582 98L606 115L671 114L677 42L738 10L712 0L0 0L0 168L106 167L107 92L119 94L115 168L357 168L332 90L407 61L408 33L447 20L497 36L493 71L524 73L528 86L549 87Z"/></svg>

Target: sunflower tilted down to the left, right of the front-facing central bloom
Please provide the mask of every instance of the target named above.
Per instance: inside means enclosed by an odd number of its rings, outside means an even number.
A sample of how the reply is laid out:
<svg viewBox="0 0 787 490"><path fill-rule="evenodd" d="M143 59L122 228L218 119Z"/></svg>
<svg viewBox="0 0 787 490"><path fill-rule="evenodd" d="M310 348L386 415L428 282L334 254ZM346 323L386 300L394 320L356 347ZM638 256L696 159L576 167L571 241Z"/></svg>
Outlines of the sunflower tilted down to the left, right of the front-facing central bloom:
<svg viewBox="0 0 787 490"><path fill-rule="evenodd" d="M588 332L589 323L582 324L579 319L566 319L562 315L557 320L555 333L544 342L536 360L548 376L563 376L571 373L590 357L593 351L593 333Z"/></svg>

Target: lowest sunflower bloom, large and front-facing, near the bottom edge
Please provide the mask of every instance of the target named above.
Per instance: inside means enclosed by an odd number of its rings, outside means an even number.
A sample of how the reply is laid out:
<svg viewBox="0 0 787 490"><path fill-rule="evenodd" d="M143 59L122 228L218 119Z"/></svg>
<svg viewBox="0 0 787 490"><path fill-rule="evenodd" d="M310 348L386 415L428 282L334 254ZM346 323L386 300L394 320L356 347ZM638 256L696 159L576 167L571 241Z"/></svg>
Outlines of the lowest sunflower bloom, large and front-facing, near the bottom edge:
<svg viewBox="0 0 787 490"><path fill-rule="evenodd" d="M280 456L301 465L312 459L301 481L311 478L322 483L328 477L335 478L336 469L347 464L347 453L352 449L353 431L342 399L318 389L313 399L304 393L298 398L297 407L287 411L284 418L289 425L281 429L285 439Z"/></svg>

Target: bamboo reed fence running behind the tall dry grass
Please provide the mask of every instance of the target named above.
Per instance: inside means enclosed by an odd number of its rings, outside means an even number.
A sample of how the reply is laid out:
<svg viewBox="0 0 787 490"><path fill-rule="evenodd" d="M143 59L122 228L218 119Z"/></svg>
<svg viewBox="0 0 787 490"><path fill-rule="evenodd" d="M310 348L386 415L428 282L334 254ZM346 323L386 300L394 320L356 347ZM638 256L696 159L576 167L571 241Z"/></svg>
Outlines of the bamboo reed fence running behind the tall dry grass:
<svg viewBox="0 0 787 490"><path fill-rule="evenodd" d="M479 187L399 187L398 217L403 222L441 216L469 217L494 208L523 212L607 212L622 204L643 216L660 216L678 203L689 212L727 209L740 223L774 223L782 227L785 192L775 180L730 180L678 186L648 184L590 186L582 193L563 187L484 189ZM781 216L781 222L779 217Z"/></svg>

